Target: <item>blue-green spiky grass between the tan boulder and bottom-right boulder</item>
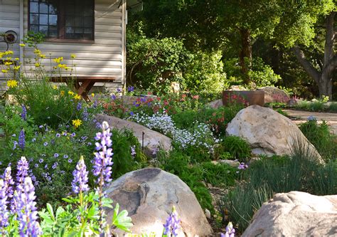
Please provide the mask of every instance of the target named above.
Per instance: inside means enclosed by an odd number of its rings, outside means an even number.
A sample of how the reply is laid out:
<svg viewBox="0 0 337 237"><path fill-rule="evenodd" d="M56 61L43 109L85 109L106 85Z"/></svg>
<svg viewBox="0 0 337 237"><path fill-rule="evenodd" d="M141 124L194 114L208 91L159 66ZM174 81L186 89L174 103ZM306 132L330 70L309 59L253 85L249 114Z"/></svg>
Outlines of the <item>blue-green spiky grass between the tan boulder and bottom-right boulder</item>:
<svg viewBox="0 0 337 237"><path fill-rule="evenodd" d="M249 182L224 196L223 207L240 231L253 214L275 193L305 191L314 195L336 194L337 163L317 164L311 154L298 150L292 157L263 157L253 162L243 177Z"/></svg>

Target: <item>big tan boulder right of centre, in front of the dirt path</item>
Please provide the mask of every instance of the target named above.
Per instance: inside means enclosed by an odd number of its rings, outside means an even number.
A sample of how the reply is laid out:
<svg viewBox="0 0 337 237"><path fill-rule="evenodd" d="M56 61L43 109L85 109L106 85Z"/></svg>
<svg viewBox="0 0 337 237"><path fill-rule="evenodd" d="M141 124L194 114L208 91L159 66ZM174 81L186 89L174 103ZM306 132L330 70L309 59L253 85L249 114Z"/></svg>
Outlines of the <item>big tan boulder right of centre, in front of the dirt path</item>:
<svg viewBox="0 0 337 237"><path fill-rule="evenodd" d="M256 155L290 155L294 147L300 147L310 154L310 158L323 162L294 122L267 107L251 105L240 110L228 124L226 134L246 139Z"/></svg>

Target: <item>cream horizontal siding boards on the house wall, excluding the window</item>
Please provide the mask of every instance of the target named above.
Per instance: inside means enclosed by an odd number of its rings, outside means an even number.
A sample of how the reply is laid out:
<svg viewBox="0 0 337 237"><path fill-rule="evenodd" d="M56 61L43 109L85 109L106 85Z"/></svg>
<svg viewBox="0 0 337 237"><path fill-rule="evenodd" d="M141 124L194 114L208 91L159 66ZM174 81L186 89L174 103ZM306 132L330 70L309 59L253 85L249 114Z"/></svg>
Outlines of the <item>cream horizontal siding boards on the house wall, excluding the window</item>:
<svg viewBox="0 0 337 237"><path fill-rule="evenodd" d="M4 4L9 1L11 4ZM120 4L120 1L95 0L94 43L55 41L41 43L38 48L47 56L47 59L42 61L46 70L51 69L50 58L63 57L63 63L76 65L75 75L77 76L114 77L116 79L114 83L96 83L95 86L120 87L124 83L124 22L122 21L124 6ZM11 14L3 14L5 11L10 11ZM23 14L23 31L26 34L28 31L28 1L26 0L24 0ZM6 19L3 20L3 18ZM2 0L2 4L0 0L0 31L4 31L4 29L13 29L19 32L18 0ZM16 56L18 56L18 42L13 47ZM23 54L26 58L32 58L33 49L25 47ZM70 54L76 55L75 60L71 60ZM52 65L55 65L53 61ZM31 66L26 63L25 70L28 71ZM69 72L65 72L63 75L69 75Z"/></svg>

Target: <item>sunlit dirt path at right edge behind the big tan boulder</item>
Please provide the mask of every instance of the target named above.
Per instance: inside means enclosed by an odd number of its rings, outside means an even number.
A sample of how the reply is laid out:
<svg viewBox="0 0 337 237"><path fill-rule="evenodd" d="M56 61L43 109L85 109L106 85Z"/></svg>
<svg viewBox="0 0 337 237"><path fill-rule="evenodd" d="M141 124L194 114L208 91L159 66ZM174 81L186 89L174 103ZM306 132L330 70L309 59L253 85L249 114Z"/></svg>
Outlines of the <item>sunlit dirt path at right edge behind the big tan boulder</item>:
<svg viewBox="0 0 337 237"><path fill-rule="evenodd" d="M306 122L306 119L309 116L316 117L318 122L322 122L323 120L328 122L328 125L331 126L331 132L337 135L337 113L332 112L308 112L308 111L300 111L300 110L283 110L287 112L287 114L291 117L295 117L293 120L296 125L299 125L303 122Z"/></svg>

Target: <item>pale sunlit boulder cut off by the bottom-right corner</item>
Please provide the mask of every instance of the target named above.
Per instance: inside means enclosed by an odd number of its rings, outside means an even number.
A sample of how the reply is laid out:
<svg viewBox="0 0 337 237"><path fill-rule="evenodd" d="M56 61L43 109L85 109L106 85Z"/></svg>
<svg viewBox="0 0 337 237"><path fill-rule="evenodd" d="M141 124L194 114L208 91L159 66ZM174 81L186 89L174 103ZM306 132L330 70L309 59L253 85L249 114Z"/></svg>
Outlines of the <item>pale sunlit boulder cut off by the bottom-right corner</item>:
<svg viewBox="0 0 337 237"><path fill-rule="evenodd" d="M275 194L242 236L337 236L337 195Z"/></svg>

